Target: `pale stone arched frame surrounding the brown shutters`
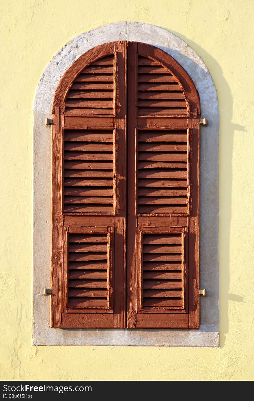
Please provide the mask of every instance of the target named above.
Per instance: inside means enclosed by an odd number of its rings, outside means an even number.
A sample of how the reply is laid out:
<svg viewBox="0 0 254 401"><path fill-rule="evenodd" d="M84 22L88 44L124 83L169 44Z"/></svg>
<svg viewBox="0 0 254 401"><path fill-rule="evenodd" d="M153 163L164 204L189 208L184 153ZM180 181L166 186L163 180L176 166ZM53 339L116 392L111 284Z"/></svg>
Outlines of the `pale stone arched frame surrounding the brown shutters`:
<svg viewBox="0 0 254 401"><path fill-rule="evenodd" d="M49 327L51 237L51 129L55 89L65 71L87 50L110 41L144 42L160 47L174 57L193 79L199 91L201 114L208 126L201 127L200 146L200 286L199 330L59 329ZM73 38L47 65L34 99L34 280L33 340L36 345L134 345L219 346L218 261L218 146L219 107L213 79L201 58L181 38L165 29L138 22L117 22Z"/></svg>

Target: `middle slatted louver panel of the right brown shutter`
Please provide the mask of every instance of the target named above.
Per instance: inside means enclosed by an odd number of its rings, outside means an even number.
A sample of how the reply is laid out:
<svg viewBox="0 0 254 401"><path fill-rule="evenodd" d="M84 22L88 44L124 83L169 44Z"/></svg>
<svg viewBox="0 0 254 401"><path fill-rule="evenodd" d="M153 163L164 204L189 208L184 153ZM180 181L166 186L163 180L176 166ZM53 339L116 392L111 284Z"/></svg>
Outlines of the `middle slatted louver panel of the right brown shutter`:
<svg viewBox="0 0 254 401"><path fill-rule="evenodd" d="M137 213L188 213L187 130L137 135Z"/></svg>

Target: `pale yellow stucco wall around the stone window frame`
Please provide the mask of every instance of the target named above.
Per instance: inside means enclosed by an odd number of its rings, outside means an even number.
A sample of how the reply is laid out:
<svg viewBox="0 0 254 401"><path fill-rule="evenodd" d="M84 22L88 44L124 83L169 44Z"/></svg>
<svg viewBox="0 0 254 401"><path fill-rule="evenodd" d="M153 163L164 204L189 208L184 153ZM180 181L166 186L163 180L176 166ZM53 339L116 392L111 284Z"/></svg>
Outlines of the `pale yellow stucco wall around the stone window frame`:
<svg viewBox="0 0 254 401"><path fill-rule="evenodd" d="M1 369L13 380L254 379L254 2L1 2ZM32 343L32 103L43 69L70 38L134 20L183 38L217 88L220 348L57 347Z"/></svg>

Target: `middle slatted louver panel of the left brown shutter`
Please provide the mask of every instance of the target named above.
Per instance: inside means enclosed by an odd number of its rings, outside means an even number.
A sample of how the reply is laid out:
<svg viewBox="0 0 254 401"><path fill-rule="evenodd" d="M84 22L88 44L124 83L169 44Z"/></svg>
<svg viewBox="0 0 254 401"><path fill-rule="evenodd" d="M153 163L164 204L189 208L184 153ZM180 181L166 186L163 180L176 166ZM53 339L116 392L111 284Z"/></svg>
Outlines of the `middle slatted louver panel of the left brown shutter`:
<svg viewBox="0 0 254 401"><path fill-rule="evenodd" d="M114 212L113 160L113 131L65 130L64 212Z"/></svg>

